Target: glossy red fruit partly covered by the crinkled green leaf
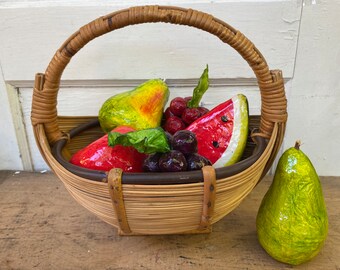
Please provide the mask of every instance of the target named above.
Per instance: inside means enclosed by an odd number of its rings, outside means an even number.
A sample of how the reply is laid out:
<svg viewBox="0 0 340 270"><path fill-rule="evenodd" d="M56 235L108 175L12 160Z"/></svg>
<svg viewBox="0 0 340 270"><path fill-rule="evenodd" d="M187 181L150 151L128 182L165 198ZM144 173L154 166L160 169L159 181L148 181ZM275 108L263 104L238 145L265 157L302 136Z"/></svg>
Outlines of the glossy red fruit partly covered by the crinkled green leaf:
<svg viewBox="0 0 340 270"><path fill-rule="evenodd" d="M134 129L120 126L113 131L124 134ZM70 163L92 170L109 171L112 168L120 168L124 172L142 172L145 158L145 154L139 153L132 146L109 146L106 134L76 152L71 157Z"/></svg>

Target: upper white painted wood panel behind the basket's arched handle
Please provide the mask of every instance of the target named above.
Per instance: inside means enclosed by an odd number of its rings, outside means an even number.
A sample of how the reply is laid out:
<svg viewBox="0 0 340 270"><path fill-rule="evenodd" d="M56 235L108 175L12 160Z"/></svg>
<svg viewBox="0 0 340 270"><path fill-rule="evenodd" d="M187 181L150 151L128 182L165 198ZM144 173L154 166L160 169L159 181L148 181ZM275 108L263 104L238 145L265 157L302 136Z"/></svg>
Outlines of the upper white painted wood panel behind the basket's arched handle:
<svg viewBox="0 0 340 270"><path fill-rule="evenodd" d="M270 67L282 69L291 78L301 11L298 3L191 1L181 6L211 13L239 29L263 52ZM31 80L36 72L45 70L73 32L127 6L120 2L76 10L65 6L0 9L5 80ZM91 41L71 61L63 79L196 78L205 64L211 66L214 78L253 77L246 62L211 34L157 23L129 26Z"/></svg>

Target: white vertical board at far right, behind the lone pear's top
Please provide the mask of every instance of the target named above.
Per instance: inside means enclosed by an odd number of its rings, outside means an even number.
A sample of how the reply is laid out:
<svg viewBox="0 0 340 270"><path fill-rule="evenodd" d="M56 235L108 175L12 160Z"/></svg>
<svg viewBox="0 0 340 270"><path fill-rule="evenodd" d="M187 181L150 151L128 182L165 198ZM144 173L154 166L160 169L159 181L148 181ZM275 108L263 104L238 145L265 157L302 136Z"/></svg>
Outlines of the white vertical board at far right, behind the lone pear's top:
<svg viewBox="0 0 340 270"><path fill-rule="evenodd" d="M340 1L306 1L288 103L285 148L295 140L320 175L340 175Z"/></svg>

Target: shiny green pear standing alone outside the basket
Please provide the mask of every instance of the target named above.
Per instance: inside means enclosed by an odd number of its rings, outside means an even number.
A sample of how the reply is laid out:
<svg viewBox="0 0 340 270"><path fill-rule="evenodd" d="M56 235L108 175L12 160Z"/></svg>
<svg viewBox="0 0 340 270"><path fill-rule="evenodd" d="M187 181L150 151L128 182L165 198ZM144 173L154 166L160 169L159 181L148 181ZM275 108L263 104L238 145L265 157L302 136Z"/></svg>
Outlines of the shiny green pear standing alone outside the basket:
<svg viewBox="0 0 340 270"><path fill-rule="evenodd" d="M320 180L299 146L297 142L281 156L256 219L261 246L274 259L291 265L315 257L328 233Z"/></svg>

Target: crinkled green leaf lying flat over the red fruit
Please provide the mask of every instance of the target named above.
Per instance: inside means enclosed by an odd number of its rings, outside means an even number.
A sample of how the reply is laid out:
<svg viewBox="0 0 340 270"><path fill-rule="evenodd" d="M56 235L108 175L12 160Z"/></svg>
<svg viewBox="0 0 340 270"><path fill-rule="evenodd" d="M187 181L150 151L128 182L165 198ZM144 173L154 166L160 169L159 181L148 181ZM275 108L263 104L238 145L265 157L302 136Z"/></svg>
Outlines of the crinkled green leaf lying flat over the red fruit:
<svg viewBox="0 0 340 270"><path fill-rule="evenodd" d="M108 141L110 146L133 146L138 152L145 154L170 151L167 136L162 128L149 128L125 134L110 132Z"/></svg>

